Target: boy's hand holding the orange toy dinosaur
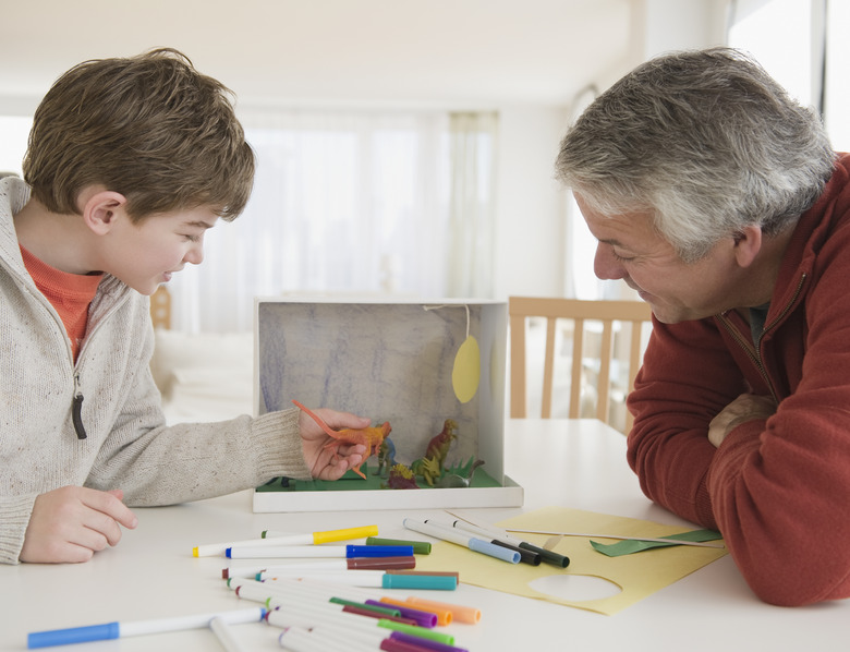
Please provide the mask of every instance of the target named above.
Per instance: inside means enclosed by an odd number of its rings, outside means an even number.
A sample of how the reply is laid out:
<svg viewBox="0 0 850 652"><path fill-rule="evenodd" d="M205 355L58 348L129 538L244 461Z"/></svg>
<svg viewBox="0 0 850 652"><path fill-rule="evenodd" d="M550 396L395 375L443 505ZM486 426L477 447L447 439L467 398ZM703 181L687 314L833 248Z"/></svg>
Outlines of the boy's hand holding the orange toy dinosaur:
<svg viewBox="0 0 850 652"><path fill-rule="evenodd" d="M331 428L363 428L372 422L348 412L336 412L326 408L314 410ZM330 442L336 442L307 414L299 416L301 444L304 447L304 460L309 467L313 478L319 480L339 480L342 475L363 461L366 447L362 444L340 444L338 447L325 448Z"/></svg>

